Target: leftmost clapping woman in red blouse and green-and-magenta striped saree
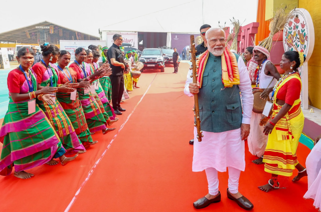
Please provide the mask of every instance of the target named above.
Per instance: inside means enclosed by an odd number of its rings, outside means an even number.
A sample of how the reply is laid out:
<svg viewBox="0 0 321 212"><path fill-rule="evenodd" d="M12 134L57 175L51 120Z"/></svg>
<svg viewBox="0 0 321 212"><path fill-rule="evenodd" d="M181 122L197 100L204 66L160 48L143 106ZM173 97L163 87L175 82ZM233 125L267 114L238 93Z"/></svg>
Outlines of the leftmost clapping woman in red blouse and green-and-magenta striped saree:
<svg viewBox="0 0 321 212"><path fill-rule="evenodd" d="M45 113L36 103L36 98L46 104L53 104L52 96L56 87L37 89L37 76L31 66L34 51L23 47L18 51L20 66L8 74L9 105L0 129L3 143L0 158L0 174L9 175L15 166L14 175L27 179L34 176L25 170L59 158L62 165L74 160L66 157L59 136Z"/></svg>

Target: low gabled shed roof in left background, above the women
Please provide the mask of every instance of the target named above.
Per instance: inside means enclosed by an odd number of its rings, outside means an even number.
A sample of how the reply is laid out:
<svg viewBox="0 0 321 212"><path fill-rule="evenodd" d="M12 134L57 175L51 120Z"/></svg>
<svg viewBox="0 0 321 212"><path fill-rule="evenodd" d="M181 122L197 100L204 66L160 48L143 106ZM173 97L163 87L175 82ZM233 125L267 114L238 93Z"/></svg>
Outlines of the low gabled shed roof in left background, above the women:
<svg viewBox="0 0 321 212"><path fill-rule="evenodd" d="M29 25L29 26L24 26L24 27L17 28L14 30L2 32L2 33L0 33L0 41L5 41L5 42L7 42L7 41L8 42L16 42L17 41L17 42L21 42L21 43L35 43L36 42L37 43L38 42L37 38L35 40L31 36L32 32L36 32L36 34L37 34L39 28L36 28L36 26L50 26L50 25L59 26L60 28L63 28L64 32L67 32L67 31L73 32L73 33L80 32L80 31L70 29L70 28L67 28L67 27L58 25L56 23L52 23L52 22L45 20L45 21L35 23L35 24ZM46 30L49 30L49 29L46 29ZM26 31L29 32L30 38L27 37ZM97 37L97 36L83 33L83 32L81 32L81 33L84 34L90 40L97 40L97 39L99 40L99 37ZM58 35L51 34L51 35L52 36L59 36L59 34ZM63 39L63 38L59 38L59 39Z"/></svg>

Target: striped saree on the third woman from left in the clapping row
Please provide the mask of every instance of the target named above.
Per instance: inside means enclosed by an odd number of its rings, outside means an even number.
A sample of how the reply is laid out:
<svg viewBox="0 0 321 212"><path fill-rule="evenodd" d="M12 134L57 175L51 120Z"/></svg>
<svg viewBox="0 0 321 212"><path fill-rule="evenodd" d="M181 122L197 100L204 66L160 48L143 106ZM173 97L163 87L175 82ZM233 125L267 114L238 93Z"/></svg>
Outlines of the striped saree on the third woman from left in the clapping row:
<svg viewBox="0 0 321 212"><path fill-rule="evenodd" d="M71 83L76 83L77 82L77 73L72 69L66 67L70 74L71 74ZM60 75L60 82L61 83L66 83L69 81L67 76L61 71L59 71ZM57 93L57 99L61 106L64 108L66 114L68 115L68 118L71 121L72 126L75 129L76 134L78 135L80 141L82 144L85 144L85 142L93 142L93 139L91 137L86 119L85 119L85 114L84 110L81 106L80 100L79 100L79 95L78 92L76 92L76 100L71 100L70 99L70 93Z"/></svg>

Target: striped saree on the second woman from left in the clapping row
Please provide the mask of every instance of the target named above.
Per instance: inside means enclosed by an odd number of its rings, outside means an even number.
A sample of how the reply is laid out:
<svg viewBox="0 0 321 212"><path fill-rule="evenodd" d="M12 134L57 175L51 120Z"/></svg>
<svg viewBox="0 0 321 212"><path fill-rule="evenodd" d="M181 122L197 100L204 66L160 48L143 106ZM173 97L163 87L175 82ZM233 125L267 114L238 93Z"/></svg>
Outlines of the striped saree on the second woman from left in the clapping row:
<svg viewBox="0 0 321 212"><path fill-rule="evenodd" d="M59 80L58 70L49 64L48 69L46 69L42 76L42 82L40 83L40 85L46 86L48 83L50 84L50 78L52 78L52 86L57 87ZM61 95L64 94L61 93L58 95L60 95L61 97ZM68 95L70 94L68 93ZM37 100L37 103L39 104L39 107L45 112L51 125L54 127L58 136L60 137L61 142L67 151L66 155L75 154L78 151L85 150L85 147L82 145L75 132L71 120L68 118L65 110L59 103L58 98L56 98L55 104L53 105L47 104L46 102L40 100Z"/></svg>

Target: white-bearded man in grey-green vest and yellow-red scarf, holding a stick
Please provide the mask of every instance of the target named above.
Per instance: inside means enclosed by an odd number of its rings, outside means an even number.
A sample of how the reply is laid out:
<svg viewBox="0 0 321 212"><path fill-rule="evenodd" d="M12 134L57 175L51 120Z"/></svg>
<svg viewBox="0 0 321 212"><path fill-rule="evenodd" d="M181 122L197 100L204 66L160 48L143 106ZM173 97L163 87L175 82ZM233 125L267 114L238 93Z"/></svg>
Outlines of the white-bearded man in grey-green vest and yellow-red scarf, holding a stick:
<svg viewBox="0 0 321 212"><path fill-rule="evenodd" d="M252 209L250 200L238 191L239 177L245 170L244 139L250 132L253 107L251 81L243 59L225 48L222 28L208 29L204 41L208 50L198 57L197 83L193 83L190 70L184 89L188 96L198 93L204 135L201 142L194 143L192 169L205 170L209 184L209 193L193 205L203 208L221 200L218 171L228 167L228 198L244 209ZM196 136L195 127L194 139L198 140Z"/></svg>

